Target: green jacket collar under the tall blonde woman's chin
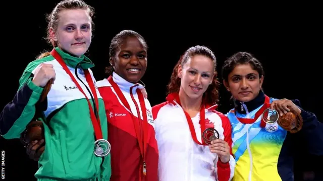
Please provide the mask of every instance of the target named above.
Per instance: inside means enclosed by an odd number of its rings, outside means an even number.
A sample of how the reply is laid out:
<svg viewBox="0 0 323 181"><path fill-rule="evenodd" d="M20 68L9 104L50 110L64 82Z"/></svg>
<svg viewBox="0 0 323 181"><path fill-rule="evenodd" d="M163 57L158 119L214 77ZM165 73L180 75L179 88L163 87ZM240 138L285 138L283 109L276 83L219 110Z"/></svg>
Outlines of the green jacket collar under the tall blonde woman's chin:
<svg viewBox="0 0 323 181"><path fill-rule="evenodd" d="M92 61L86 57L85 55L81 55L80 57L75 57L70 55L69 53L63 51L59 47L55 47L55 50L57 53L59 53L64 60L64 62L72 68L76 68L76 66L79 64L83 69L88 69L94 67L94 64Z"/></svg>

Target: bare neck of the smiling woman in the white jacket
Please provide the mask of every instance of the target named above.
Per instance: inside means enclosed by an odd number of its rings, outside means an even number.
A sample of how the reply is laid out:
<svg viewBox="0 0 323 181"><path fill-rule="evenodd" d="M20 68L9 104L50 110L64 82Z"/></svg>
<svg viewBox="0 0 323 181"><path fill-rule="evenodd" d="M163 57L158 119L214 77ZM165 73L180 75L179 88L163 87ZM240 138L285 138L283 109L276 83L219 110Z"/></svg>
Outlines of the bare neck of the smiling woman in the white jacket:
<svg viewBox="0 0 323 181"><path fill-rule="evenodd" d="M187 94L180 89L179 98L181 101L181 106L185 111L199 111L202 104L202 97L191 99L187 96Z"/></svg>

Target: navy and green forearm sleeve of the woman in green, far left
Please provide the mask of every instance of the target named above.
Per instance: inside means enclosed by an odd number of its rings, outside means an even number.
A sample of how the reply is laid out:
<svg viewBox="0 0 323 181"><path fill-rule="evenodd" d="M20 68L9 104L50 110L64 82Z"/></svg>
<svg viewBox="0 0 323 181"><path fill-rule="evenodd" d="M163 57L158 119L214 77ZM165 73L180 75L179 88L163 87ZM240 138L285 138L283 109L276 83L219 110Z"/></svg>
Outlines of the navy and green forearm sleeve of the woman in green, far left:
<svg viewBox="0 0 323 181"><path fill-rule="evenodd" d="M7 104L0 115L0 133L6 139L19 138L35 115L35 104L42 93L29 78L22 85L12 102Z"/></svg>

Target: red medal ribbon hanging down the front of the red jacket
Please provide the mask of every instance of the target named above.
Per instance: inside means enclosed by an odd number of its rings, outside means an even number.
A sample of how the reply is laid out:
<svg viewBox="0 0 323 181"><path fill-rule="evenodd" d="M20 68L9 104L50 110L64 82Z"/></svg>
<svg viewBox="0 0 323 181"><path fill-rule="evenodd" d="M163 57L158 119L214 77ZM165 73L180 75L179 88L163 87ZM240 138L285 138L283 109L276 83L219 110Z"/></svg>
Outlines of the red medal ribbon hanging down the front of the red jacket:
<svg viewBox="0 0 323 181"><path fill-rule="evenodd" d="M140 111L139 111L137 102L136 102L136 100L134 99L134 97L132 95L132 88L134 86L130 87L130 96L131 96L131 99L132 99L133 103L135 104L138 118L136 118L133 115L127 99L123 95L123 93L122 93L120 87L117 85L117 83L113 81L113 77L109 76L109 78L107 78L107 80L111 83L112 87L115 89L116 94L119 97L119 99L121 100L122 104L131 112L132 121L133 121L133 124L134 124L134 127L135 127L137 139L138 139L138 142L139 142L140 152L141 152L141 155L142 155L142 158L143 158L143 165L140 165L140 169L139 169L139 171L140 171L139 179L141 180L141 170L143 171L144 176L146 175L145 154L146 154L147 142L148 142L147 141L147 139L148 139L148 135L147 135L148 119L147 119L146 105L145 105L143 95L142 95L140 89L137 88L136 92L137 92L137 95L138 95L140 108L141 108L141 113L142 113L142 118L143 118L143 126L142 126L142 121L140 120ZM135 85L135 86L137 86L137 85Z"/></svg>

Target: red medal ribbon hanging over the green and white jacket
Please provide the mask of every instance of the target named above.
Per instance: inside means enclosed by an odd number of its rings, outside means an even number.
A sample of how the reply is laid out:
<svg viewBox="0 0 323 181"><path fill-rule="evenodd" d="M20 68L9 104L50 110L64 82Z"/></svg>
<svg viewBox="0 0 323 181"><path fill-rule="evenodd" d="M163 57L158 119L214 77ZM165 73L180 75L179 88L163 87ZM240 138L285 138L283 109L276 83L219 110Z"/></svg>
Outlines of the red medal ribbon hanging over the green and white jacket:
<svg viewBox="0 0 323 181"><path fill-rule="evenodd" d="M99 117L94 114L94 111L92 109L91 103L89 101L89 99L87 98L86 94L84 93L82 87L80 86L80 84L76 81L75 77L73 76L73 74L71 73L70 69L67 67L66 63L64 62L64 60L62 59L61 55L55 50L53 49L50 54L62 65L63 69L66 71L67 74L70 75L71 79L73 80L73 82L75 83L75 85L77 86L77 88L80 90L80 92L85 96L87 103L89 105L89 110L90 110L90 117L91 117L91 121L93 124L93 128L94 128L94 133L95 133L95 138L98 139L102 139L102 130L101 130L101 125L100 125L100 119ZM98 99L97 99L97 95L96 95L96 89L94 88L94 83L92 80L92 77L89 73L89 71L86 69L84 70L84 74L85 74L85 78L87 83L90 86L91 92L94 96L94 100L95 100L95 105L96 106L96 110L98 111ZM91 93L90 93L91 94Z"/></svg>

